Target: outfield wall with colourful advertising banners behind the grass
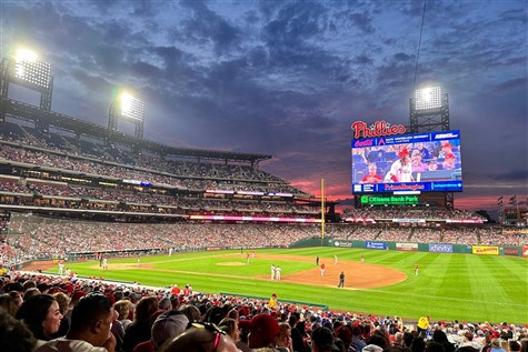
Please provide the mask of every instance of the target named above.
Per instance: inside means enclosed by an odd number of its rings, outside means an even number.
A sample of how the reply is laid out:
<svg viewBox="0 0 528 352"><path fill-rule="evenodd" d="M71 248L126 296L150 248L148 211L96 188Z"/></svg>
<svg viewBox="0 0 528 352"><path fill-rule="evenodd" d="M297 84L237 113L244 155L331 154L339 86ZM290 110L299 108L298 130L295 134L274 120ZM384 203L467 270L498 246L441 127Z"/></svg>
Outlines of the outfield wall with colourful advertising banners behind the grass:
<svg viewBox="0 0 528 352"><path fill-rule="evenodd" d="M471 245L450 243L418 243L392 241L360 241L311 238L297 242L291 248L337 247L368 250L391 250L408 252L465 253L479 255L508 255L528 258L528 245Z"/></svg>

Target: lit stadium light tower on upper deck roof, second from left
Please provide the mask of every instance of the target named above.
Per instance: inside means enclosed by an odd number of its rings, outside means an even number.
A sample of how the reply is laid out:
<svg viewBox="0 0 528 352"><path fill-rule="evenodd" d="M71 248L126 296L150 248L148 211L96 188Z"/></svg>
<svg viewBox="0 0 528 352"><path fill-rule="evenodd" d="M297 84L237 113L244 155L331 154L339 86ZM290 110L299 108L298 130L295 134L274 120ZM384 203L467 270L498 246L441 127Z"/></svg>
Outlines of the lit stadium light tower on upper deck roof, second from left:
<svg viewBox="0 0 528 352"><path fill-rule="evenodd" d="M145 103L122 91L113 98L110 104L108 129L117 131L118 120L121 119L136 124L135 137L141 139L143 138L143 118Z"/></svg>

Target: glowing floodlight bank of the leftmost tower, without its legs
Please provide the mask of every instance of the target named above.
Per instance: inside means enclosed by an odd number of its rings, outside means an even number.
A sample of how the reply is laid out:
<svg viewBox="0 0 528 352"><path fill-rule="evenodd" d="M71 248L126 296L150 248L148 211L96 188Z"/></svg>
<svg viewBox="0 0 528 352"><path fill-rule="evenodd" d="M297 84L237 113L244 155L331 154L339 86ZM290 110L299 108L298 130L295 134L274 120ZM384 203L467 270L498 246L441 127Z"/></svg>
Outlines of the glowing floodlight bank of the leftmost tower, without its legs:
<svg viewBox="0 0 528 352"><path fill-rule="evenodd" d="M39 60L32 51L19 50L14 58L14 77L38 88L49 89L51 66Z"/></svg>

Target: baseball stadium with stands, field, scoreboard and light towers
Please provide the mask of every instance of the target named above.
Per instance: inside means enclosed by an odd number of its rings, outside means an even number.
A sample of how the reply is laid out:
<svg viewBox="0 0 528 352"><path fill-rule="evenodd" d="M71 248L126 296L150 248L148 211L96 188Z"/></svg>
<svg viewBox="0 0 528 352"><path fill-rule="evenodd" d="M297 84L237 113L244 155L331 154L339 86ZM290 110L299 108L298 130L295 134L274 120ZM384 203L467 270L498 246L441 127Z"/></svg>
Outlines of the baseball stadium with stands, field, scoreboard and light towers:
<svg viewBox="0 0 528 352"><path fill-rule="evenodd" d="M528 323L527 211L500 200L490 223L455 208L461 138L447 93L428 90L431 105L417 92L408 127L352 123L355 204L340 213L323 182L315 197L263 170L271 155L146 140L143 104L131 97L109 100L108 125L54 112L49 72L43 61L2 60L3 292L32 281L47 292L229 302L313 321ZM40 105L12 99L10 84L37 91ZM415 157L422 169L405 174Z"/></svg>

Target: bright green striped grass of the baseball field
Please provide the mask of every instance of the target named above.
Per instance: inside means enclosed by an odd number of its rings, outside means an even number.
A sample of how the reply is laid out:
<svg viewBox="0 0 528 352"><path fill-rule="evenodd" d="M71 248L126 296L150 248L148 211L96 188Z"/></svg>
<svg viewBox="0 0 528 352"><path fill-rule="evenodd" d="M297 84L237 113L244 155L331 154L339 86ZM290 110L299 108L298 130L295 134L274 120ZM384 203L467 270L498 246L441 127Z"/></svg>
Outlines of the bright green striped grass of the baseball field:
<svg viewBox="0 0 528 352"><path fill-rule="evenodd" d="M283 254L285 260L259 259L265 253ZM368 290L340 290L255 278L269 275L271 264L280 265L282 275L315 265L312 260L287 261L286 255L307 255L310 259L319 255L330 262L335 254L340 261L359 261L363 254L366 262L404 271L408 276L400 283ZM240 265L226 265L233 262ZM112 264L117 263L129 263L130 269L112 271ZM142 266L151 265L155 270L136 268L136 258L110 259L106 272L93 261L68 263L68 266L81 276L102 275L108 280L136 281L153 286L185 286L189 283L198 292L258 298L269 298L275 292L279 301L328 305L331 310L347 312L398 315L408 320L430 315L434 321L528 323L528 260L524 258L322 247L258 250L249 264L240 251L141 258ZM420 268L418 278L414 275L415 263ZM49 272L57 273L57 268Z"/></svg>

